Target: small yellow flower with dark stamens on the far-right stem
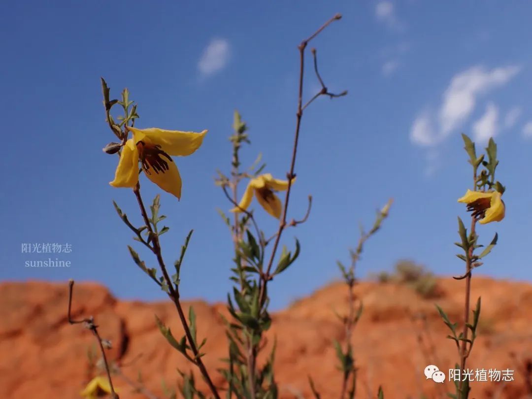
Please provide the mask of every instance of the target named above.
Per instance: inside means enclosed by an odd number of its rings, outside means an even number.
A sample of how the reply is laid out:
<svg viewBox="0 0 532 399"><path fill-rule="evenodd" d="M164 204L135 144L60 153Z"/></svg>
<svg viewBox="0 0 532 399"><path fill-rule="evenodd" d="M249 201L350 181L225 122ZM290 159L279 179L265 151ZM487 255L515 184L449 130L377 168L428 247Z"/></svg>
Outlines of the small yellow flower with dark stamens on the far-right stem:
<svg viewBox="0 0 532 399"><path fill-rule="evenodd" d="M505 206L501 195L498 191L483 193L467 190L462 198L458 198L458 202L467 204L467 210L473 211L472 215L481 219L481 225L485 225L489 222L500 222L504 218Z"/></svg>

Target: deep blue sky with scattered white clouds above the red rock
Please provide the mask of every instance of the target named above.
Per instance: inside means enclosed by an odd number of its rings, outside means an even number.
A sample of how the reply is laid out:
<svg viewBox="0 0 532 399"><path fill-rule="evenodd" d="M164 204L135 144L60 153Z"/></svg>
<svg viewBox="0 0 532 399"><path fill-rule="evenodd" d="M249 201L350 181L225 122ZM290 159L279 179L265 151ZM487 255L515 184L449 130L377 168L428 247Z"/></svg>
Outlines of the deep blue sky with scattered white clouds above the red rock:
<svg viewBox="0 0 532 399"><path fill-rule="evenodd" d="M298 261L273 280L273 309L338 277L359 222L395 199L385 226L365 247L357 274L392 270L413 259L439 275L456 275L456 202L470 187L460 132L479 143L495 136L506 185L506 218L479 229L499 243L484 275L532 279L523 177L532 151L532 56L529 2L7 2L0 6L0 109L3 115L0 279L98 281L121 298L163 298L131 261L131 240L112 200L140 221L128 189L109 186L117 157L101 148L106 127L99 78L118 96L128 87L141 128L201 131L203 146L176 159L182 198L163 193L171 265L194 229L182 270L185 298L224 300L232 245L216 208L229 209L213 184L229 171L232 112L240 110L267 171L283 177L295 126L297 44L340 12L315 40L320 72L331 91L304 115L289 212L309 221L286 231L302 243ZM310 55L310 54L309 54ZM307 59L310 65L311 58ZM307 70L305 95L318 89ZM146 198L160 190L146 182ZM253 203L256 206L256 203ZM261 226L277 223L261 213ZM71 244L69 254L22 253L22 243ZM69 269L25 268L58 257ZM457 282L456 284L460 284ZM474 284L474 283L473 283ZM65 286L66 287L66 286Z"/></svg>

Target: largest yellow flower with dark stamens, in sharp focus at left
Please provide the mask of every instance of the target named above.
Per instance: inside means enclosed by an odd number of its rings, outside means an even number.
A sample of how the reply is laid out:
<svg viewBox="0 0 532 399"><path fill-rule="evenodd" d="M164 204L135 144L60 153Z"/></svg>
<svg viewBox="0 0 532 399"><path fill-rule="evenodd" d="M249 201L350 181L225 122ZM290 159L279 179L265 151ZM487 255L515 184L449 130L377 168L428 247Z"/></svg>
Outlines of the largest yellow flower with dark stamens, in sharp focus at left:
<svg viewBox="0 0 532 399"><path fill-rule="evenodd" d="M181 176L170 155L186 156L200 148L203 136L192 131L137 129L127 127L133 138L122 148L113 187L135 187L138 182L139 161L149 180L164 191L181 198Z"/></svg>

